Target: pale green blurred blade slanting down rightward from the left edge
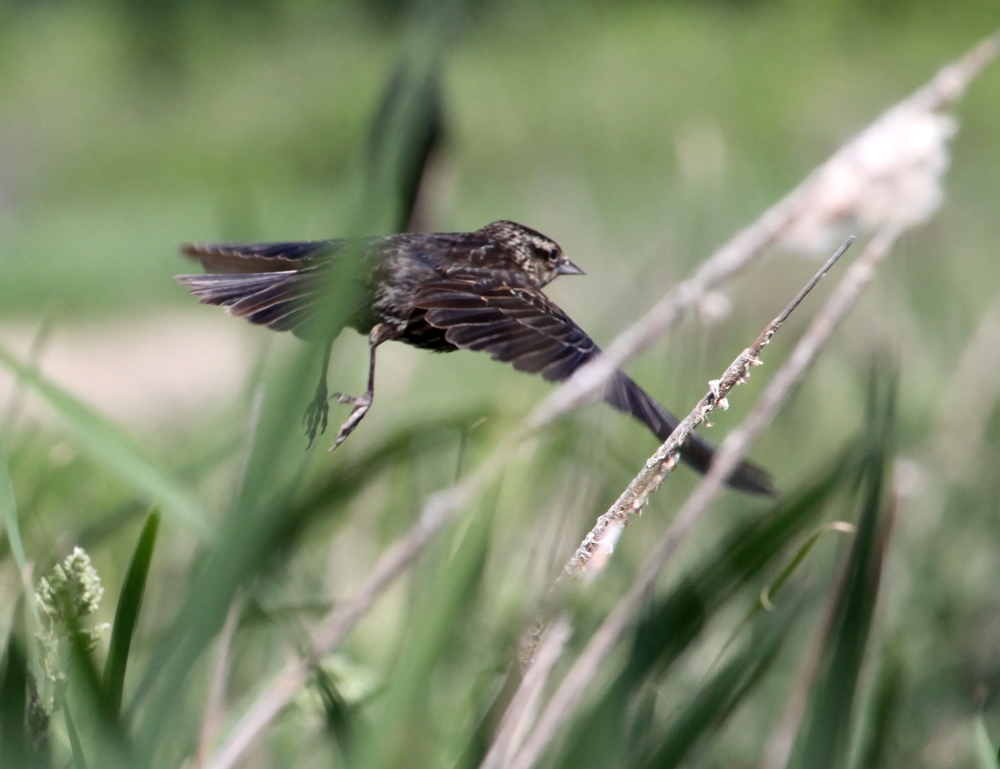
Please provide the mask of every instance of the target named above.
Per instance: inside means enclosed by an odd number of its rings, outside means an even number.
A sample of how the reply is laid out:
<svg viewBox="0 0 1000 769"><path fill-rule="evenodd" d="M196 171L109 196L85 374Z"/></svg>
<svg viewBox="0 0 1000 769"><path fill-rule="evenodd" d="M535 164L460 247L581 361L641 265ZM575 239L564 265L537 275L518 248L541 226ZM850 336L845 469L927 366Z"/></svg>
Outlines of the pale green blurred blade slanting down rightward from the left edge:
<svg viewBox="0 0 1000 769"><path fill-rule="evenodd" d="M118 428L33 368L25 366L3 347L0 347L0 363L20 376L27 386L48 402L81 451L118 476L137 494L157 504L186 529L201 539L210 538L208 516L194 496L178 480L145 457Z"/></svg>

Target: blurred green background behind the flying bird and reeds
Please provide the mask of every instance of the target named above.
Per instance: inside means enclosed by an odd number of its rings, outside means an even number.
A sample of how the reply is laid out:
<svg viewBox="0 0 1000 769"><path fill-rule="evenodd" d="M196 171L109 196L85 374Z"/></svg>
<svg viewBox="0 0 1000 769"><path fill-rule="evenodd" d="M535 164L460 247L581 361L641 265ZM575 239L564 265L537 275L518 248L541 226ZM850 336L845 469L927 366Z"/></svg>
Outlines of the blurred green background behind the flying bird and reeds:
<svg viewBox="0 0 1000 769"><path fill-rule="evenodd" d="M298 343L197 305L172 280L192 270L177 246L350 231L382 91L400 57L427 39L427 17L444 7L0 1L0 342L24 358L34 344L43 372L123 427L219 519L239 483L260 370L280 365ZM447 11L448 45L435 52L444 140L424 225L471 230L513 219L554 238L587 277L560 280L548 293L599 344L1000 22L987 0L478 0ZM899 452L912 489L877 620L905 671L892 766L975 765L969 724L980 710L1000 739L998 104L994 67L956 110L941 211L899 244L753 454L779 487L794 488L862 429L872 357L896 361ZM814 269L799 255L768 254L726 287L728 316L690 318L630 373L685 413ZM768 348L767 365L734 394L710 438L720 440L745 413L828 290ZM366 359L365 341L346 332L334 348L331 389L360 391ZM315 536L293 539L280 568L255 576L247 590L257 613L247 612L230 692L243 707L261 671L280 665L330 596L358 583L420 501L474 465L549 391L481 355L386 345L379 365L375 406L342 449L306 458L304 439L291 439L283 456L305 462L300 485L396 445L401 427L420 435L425 421L454 418L428 428L426 445L408 438L335 514L310 518ZM0 429L29 558L41 574L84 544L108 588L110 618L146 503L43 408L30 399L22 408L22 392L0 380ZM331 422L340 416L335 408ZM483 503L492 516L481 575L489 589L451 641L461 649L461 674L451 672L461 683L434 679L441 719L473 718L461 693L488 688L480 678L506 664L531 613L521 599L544 594L654 448L641 426L592 406L504 474ZM641 568L693 482L679 473L626 532L595 587L595 616ZM762 504L730 494L721 508L680 561L696 561ZM162 640L200 557L196 538L169 518L157 547L140 657ZM835 551L817 548L812 580L832 579ZM4 595L13 596L9 557L4 569ZM379 604L346 648L348 679L385 685L419 622L418 599L439 577L433 566L418 567ZM806 615L797 642L808 642L814 621ZM724 641L729 631L714 632ZM699 765L756 765L747 756L759 756L781 712L795 659ZM198 664L204 669L192 677L201 683L184 695L194 710L178 716L192 723L208 675L205 658ZM329 765L317 723L283 721L253 765ZM454 759L467 724L437 728L436 747L410 765ZM178 758L191 752L185 734Z"/></svg>

